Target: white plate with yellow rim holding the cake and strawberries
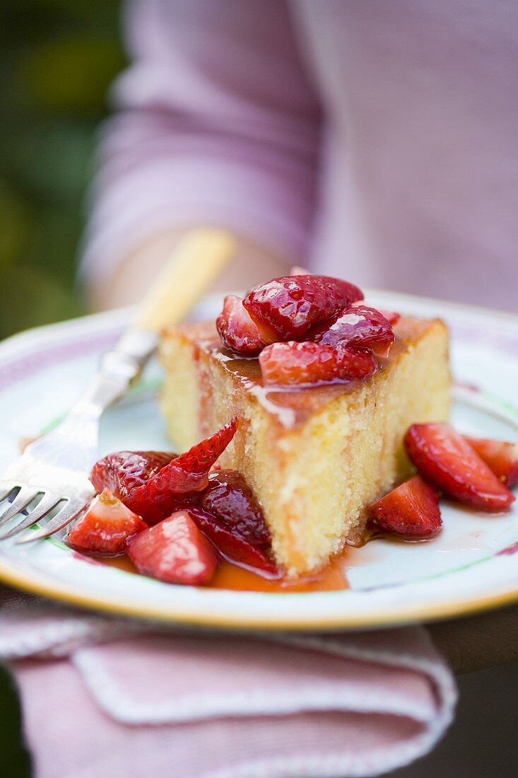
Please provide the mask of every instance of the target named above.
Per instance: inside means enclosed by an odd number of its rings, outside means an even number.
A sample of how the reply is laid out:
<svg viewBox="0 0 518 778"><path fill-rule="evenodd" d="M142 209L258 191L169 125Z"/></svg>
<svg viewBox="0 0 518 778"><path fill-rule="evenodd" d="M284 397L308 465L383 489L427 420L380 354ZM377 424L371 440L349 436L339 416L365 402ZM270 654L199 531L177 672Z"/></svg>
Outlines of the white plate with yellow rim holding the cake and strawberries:
<svg viewBox="0 0 518 778"><path fill-rule="evenodd" d="M518 440L518 317L453 303L371 291L373 305L443 317L460 384L453 421L474 436ZM208 296L194 318L213 317ZM28 331L0 344L0 468L19 441L59 419L79 397L99 355L114 345L129 311ZM156 403L158 364L103 417L100 453L172 448ZM433 541L377 540L355 550L345 591L264 594L178 587L86 561L50 538L0 546L0 578L26 591L118 615L243 629L369 629L443 619L518 600L518 503L488 516L449 503Z"/></svg>

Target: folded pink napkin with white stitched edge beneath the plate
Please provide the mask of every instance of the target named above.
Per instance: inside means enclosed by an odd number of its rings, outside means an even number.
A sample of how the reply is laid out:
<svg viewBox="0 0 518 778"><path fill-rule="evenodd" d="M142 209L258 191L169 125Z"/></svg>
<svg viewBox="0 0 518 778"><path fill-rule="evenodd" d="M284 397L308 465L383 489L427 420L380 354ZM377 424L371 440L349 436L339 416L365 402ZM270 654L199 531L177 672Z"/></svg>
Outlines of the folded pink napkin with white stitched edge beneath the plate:
<svg viewBox="0 0 518 778"><path fill-rule="evenodd" d="M252 636L0 589L36 778L376 776L428 752L453 677L420 627Z"/></svg>

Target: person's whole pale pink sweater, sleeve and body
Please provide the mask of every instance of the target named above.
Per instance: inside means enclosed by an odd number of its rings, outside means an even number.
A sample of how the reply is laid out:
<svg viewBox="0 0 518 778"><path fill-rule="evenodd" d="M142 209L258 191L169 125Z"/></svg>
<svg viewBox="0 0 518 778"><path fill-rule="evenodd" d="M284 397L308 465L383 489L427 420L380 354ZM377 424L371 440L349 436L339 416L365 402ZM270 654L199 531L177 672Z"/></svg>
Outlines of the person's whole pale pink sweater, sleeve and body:
<svg viewBox="0 0 518 778"><path fill-rule="evenodd" d="M84 254L229 226L365 286L518 310L518 3L134 0Z"/></svg>

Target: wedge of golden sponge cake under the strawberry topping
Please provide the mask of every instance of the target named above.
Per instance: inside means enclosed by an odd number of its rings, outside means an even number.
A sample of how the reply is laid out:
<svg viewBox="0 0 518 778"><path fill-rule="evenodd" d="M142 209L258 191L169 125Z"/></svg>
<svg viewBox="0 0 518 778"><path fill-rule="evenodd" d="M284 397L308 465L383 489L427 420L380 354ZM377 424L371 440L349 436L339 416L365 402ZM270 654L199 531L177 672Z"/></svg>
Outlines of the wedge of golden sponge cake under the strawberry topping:
<svg viewBox="0 0 518 778"><path fill-rule="evenodd" d="M187 449L239 417L221 464L254 489L275 559L291 576L361 537L367 506L411 473L408 427L449 415L446 325L404 317L394 333L373 377L304 388L264 387L257 359L223 347L212 323L163 335L162 408L174 446Z"/></svg>

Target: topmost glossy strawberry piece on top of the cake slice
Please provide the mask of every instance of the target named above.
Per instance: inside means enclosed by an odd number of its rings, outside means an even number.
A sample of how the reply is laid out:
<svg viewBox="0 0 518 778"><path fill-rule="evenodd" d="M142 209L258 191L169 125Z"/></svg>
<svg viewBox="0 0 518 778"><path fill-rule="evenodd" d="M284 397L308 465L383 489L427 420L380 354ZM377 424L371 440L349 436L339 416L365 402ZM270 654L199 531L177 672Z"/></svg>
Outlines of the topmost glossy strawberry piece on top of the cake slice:
<svg viewBox="0 0 518 778"><path fill-rule="evenodd" d="M357 286L326 275L286 275L256 286L243 300L264 342L299 340L315 324L362 300Z"/></svg>

